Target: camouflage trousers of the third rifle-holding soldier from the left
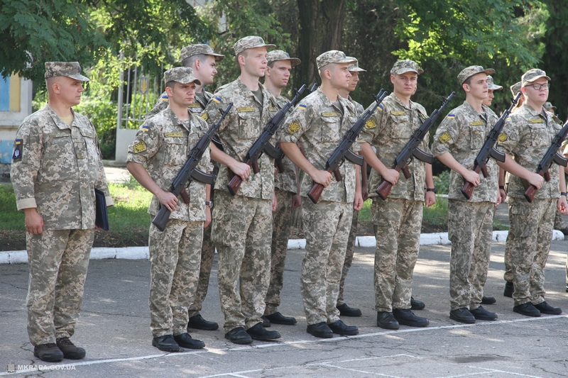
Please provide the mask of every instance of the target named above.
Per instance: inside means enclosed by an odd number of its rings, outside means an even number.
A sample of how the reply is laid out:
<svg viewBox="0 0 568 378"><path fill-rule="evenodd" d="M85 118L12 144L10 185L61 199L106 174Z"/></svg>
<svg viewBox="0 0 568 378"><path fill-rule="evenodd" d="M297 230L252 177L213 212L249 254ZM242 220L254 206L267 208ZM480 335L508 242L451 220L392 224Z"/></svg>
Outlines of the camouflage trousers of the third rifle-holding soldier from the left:
<svg viewBox="0 0 568 378"><path fill-rule="evenodd" d="M353 204L302 198L302 223L306 252L302 260L300 290L307 324L339 320L337 296Z"/></svg>

